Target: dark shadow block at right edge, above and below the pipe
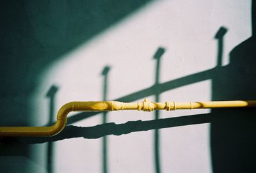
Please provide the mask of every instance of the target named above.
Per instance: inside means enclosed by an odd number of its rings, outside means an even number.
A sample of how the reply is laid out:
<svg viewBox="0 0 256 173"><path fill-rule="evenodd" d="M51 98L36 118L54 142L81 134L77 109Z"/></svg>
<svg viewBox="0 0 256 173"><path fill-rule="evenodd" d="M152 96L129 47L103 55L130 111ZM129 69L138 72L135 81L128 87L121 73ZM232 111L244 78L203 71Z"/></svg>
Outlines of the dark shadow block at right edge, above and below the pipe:
<svg viewBox="0 0 256 173"><path fill-rule="evenodd" d="M230 64L212 77L212 100L255 100L255 1L253 36L230 52ZM214 172L256 172L255 109L212 110L211 155Z"/></svg>

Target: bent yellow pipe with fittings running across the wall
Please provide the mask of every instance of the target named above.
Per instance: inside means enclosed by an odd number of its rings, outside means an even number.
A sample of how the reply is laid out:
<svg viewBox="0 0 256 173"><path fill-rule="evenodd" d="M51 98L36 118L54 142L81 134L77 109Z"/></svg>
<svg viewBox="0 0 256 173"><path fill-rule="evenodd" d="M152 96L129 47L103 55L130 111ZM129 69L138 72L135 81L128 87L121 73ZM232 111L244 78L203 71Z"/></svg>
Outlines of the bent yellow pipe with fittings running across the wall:
<svg viewBox="0 0 256 173"><path fill-rule="evenodd" d="M67 123L67 114L72 111L112 111L112 110L176 110L176 109L212 109L256 107L256 100L218 101L218 102L165 102L154 103L145 99L138 103L108 102L70 102L59 110L57 121L52 126L0 127L0 136L51 137L60 133Z"/></svg>

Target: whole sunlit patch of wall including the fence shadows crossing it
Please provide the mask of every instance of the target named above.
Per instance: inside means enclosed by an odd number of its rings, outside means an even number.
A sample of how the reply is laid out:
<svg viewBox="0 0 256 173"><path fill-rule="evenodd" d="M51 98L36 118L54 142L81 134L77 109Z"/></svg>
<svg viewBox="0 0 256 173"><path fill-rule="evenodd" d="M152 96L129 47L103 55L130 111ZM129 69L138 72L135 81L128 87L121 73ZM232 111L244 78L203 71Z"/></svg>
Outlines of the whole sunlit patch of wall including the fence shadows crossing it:
<svg viewBox="0 0 256 173"><path fill-rule="evenodd" d="M58 109L72 101L215 98L212 80L230 63L230 51L252 36L251 1L150 1L138 6L45 64L29 97L29 124L51 124ZM65 26L67 17L57 17ZM73 112L68 128L79 130L64 131L53 142L29 144L33 164L26 162L26 169L214 172L209 114L211 110Z"/></svg>

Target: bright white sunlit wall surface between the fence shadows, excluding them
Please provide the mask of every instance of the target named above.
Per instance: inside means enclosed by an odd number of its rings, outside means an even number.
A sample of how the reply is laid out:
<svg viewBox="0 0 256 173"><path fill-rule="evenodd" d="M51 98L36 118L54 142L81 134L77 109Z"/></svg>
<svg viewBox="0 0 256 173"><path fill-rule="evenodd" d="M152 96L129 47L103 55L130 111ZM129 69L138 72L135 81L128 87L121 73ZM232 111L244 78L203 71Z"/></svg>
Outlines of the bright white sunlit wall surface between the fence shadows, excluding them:
<svg viewBox="0 0 256 173"><path fill-rule="evenodd" d="M40 87L31 103L33 123L46 124L48 101L45 93L52 86L56 93L55 112L71 101L102 100L105 66L108 75L108 100L115 100L155 82L156 50L163 47L159 82L186 77L216 66L217 41L214 35L224 26L223 65L228 53L251 36L250 1L154 1L111 26L92 40L60 58L42 73ZM160 101L209 101L211 79L160 94ZM148 100L154 101L154 95ZM134 100L134 102L142 101ZM42 109L43 108L43 109ZM160 112L160 118L204 114L211 110ZM154 112L109 112L108 122L154 119ZM41 119L38 120L38 117ZM74 123L76 126L102 124L102 114ZM212 172L209 126L193 124L159 130L161 172ZM102 172L102 138L65 139L53 144L54 172ZM46 167L46 144L36 144L35 160ZM40 156L36 156L36 153ZM109 172L155 172L154 130L108 136ZM43 169L42 172L45 170Z"/></svg>

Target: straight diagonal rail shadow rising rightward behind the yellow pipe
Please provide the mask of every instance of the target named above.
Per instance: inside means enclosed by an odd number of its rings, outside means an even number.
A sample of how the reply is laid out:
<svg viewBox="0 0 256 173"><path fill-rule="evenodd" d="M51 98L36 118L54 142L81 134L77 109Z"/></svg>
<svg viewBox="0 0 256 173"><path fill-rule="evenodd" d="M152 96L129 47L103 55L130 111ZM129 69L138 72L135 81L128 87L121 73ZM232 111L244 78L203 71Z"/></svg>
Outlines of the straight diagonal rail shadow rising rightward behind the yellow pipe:
<svg viewBox="0 0 256 173"><path fill-rule="evenodd" d="M146 89L142 89L132 94L128 94L126 96L122 96L121 98L117 98L116 101L119 102L133 102L134 100L139 100L141 98L145 98L147 96L151 96L154 94L160 94L164 91L169 91L171 89L175 89L177 87L186 86L188 84L193 84L196 82L201 82L203 80L212 79L214 77L214 73L216 71L220 72L220 70L224 70L225 66L212 68L210 70L205 70L199 73L195 73L193 75L188 75L186 77L181 77L179 79L170 80L168 82L163 82L161 84L156 84L154 86L148 87ZM82 119L86 119L88 117L95 116L100 112L81 112L74 116L68 117L67 124L76 123Z"/></svg>

